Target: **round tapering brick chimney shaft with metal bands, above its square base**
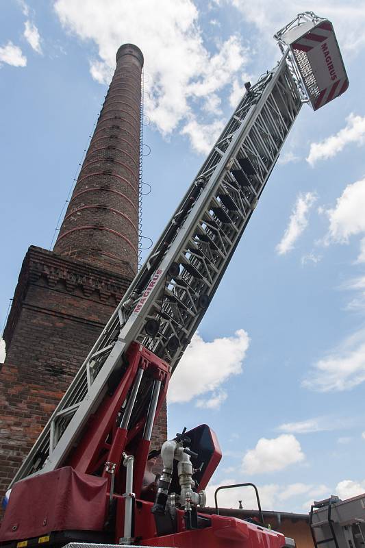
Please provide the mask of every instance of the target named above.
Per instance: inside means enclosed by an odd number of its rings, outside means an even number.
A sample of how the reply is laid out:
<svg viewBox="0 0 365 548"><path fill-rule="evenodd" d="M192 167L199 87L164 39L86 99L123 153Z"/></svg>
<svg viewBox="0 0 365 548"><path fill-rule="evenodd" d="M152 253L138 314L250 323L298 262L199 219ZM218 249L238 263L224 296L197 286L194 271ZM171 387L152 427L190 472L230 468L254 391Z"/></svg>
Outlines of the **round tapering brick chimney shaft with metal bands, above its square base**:
<svg viewBox="0 0 365 548"><path fill-rule="evenodd" d="M68 205L55 253L113 271L138 266L143 55L125 44Z"/></svg>

